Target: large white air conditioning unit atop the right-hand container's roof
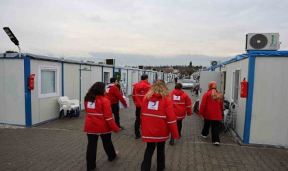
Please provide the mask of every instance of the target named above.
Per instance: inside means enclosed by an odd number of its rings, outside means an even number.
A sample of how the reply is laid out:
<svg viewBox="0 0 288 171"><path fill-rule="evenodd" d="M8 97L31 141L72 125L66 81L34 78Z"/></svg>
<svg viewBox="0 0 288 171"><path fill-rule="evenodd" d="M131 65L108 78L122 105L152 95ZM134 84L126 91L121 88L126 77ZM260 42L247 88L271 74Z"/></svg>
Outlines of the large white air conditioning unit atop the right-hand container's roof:
<svg viewBox="0 0 288 171"><path fill-rule="evenodd" d="M277 51L280 48L279 34L246 34L246 51L270 50Z"/></svg>

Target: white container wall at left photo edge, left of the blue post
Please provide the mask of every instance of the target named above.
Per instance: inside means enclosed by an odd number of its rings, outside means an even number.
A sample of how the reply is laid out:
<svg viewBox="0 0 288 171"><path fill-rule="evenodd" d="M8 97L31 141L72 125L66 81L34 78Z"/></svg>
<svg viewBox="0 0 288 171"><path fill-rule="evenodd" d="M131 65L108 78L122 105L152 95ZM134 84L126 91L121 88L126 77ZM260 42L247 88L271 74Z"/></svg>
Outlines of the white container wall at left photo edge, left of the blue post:
<svg viewBox="0 0 288 171"><path fill-rule="evenodd" d="M0 123L25 125L24 60L0 60Z"/></svg>

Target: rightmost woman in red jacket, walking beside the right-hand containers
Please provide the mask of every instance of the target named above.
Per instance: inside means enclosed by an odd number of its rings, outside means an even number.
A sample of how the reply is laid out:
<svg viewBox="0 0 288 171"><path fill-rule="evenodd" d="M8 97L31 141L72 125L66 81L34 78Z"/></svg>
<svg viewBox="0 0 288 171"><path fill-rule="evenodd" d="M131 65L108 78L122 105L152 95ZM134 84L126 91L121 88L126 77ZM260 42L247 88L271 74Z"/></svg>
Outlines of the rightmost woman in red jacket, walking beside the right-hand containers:
<svg viewBox="0 0 288 171"><path fill-rule="evenodd" d="M217 91L217 83L215 81L211 81L208 84L208 88L209 90L203 95L198 113L199 116L204 118L201 136L207 138L211 124L212 142L219 146L219 121L222 120L223 96L221 92Z"/></svg>

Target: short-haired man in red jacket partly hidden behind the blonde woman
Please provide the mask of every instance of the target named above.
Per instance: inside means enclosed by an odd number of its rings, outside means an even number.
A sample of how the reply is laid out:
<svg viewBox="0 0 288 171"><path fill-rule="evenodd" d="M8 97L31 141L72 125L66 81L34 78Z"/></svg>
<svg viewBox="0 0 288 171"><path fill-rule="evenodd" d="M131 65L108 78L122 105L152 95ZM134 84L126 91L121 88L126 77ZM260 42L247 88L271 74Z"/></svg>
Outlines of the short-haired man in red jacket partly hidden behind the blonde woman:
<svg viewBox="0 0 288 171"><path fill-rule="evenodd" d="M150 88L151 88L151 85L148 82L148 75L146 74L141 75L141 81L133 85L132 98L133 98L134 105L136 107L136 111L135 111L136 120L134 124L134 133L135 133L136 139L139 139L141 137L140 111L142 107L143 98Z"/></svg>

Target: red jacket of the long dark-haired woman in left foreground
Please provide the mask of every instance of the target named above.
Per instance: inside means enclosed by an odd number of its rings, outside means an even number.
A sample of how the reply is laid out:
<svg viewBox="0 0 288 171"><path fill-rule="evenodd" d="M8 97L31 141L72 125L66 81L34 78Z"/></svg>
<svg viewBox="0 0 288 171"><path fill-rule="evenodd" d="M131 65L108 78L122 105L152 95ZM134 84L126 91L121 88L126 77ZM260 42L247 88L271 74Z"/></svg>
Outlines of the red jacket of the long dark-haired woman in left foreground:
<svg viewBox="0 0 288 171"><path fill-rule="evenodd" d="M84 101L86 119L84 132L104 134L118 132L119 127L112 116L110 101L104 96L96 96L95 102Z"/></svg>

